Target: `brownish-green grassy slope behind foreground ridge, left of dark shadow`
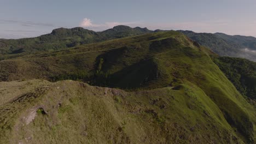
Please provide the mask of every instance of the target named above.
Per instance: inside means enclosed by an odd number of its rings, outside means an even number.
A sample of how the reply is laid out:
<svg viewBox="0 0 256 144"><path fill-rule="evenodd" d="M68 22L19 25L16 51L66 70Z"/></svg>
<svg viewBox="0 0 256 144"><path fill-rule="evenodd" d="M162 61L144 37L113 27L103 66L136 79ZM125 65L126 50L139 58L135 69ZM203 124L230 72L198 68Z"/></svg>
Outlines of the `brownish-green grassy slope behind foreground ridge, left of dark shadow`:
<svg viewBox="0 0 256 144"><path fill-rule="evenodd" d="M61 80L72 76L82 76L86 81L94 80L91 82L97 82L95 77L105 75L105 69L108 67L108 65L104 66L107 64L106 62L113 61L116 64L115 68L120 69L135 64L142 61L143 58L147 59L154 55L153 51L149 51L150 43L168 37L172 39L181 37L184 39L184 35L178 32L160 32L4 60L0 61L2 68L0 70L0 79L2 81L33 78L47 80L56 78L56 80ZM182 43L182 39L180 41ZM179 43L179 41L176 40L176 43ZM125 53L127 53L127 56ZM128 55L128 53L130 54ZM112 59L106 59L107 56ZM118 57L125 59L118 62ZM101 68L99 66L102 65L100 63L102 58L105 63Z"/></svg>

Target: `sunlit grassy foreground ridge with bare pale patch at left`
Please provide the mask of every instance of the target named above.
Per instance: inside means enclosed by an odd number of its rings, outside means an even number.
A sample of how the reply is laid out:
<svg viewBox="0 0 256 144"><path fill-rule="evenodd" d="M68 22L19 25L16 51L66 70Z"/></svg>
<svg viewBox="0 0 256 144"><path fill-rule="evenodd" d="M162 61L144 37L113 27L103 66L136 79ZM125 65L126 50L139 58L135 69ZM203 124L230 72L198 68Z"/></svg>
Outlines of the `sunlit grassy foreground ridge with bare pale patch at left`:
<svg viewBox="0 0 256 144"><path fill-rule="evenodd" d="M29 83L44 85L15 94L6 89ZM2 84L1 97L15 98L0 105L1 143L243 143L190 82L138 92L74 81Z"/></svg>

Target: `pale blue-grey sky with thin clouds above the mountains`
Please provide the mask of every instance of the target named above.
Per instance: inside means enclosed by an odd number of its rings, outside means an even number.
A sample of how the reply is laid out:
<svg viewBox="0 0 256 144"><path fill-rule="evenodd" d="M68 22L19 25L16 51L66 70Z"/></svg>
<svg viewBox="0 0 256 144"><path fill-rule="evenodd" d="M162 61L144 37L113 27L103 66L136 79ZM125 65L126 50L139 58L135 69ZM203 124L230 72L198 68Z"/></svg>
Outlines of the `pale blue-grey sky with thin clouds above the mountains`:
<svg viewBox="0 0 256 144"><path fill-rule="evenodd" d="M0 38L37 37L55 28L103 31L117 25L256 37L254 0L0 0Z"/></svg>

